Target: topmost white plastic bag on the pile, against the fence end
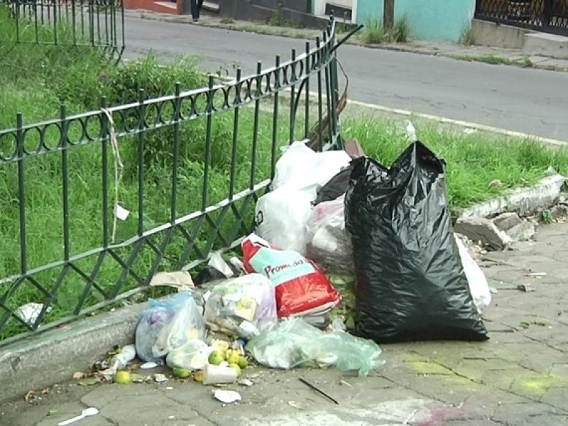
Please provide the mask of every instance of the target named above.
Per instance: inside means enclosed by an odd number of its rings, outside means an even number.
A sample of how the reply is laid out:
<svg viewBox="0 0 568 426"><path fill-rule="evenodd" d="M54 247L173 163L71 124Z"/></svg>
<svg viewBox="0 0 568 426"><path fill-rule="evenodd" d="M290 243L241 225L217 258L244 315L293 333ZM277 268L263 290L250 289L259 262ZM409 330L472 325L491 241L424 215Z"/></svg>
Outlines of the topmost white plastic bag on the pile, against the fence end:
<svg viewBox="0 0 568 426"><path fill-rule="evenodd" d="M294 142L285 148L276 163L271 190L283 186L305 188L312 192L313 201L317 190L350 162L351 157L345 151L316 153L305 145L305 141Z"/></svg>

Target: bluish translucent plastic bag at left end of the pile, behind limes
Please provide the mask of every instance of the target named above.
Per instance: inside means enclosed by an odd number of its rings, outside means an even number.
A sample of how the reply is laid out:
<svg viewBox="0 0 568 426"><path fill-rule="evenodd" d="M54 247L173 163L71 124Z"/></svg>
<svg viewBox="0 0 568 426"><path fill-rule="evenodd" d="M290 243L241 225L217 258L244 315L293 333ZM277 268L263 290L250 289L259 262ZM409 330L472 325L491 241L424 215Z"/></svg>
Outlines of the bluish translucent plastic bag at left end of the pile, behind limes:
<svg viewBox="0 0 568 426"><path fill-rule="evenodd" d="M136 326L136 353L142 361L161 363L173 349L205 337L203 317L191 293L151 299Z"/></svg>

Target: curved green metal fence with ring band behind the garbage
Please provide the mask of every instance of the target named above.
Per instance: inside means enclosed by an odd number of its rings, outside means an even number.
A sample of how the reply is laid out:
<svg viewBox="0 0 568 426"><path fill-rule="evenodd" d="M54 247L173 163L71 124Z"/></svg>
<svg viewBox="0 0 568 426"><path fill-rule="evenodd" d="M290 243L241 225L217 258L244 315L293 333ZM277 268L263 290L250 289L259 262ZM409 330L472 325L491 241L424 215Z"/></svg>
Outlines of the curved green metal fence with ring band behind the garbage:
<svg viewBox="0 0 568 426"><path fill-rule="evenodd" d="M341 43L341 42L340 42ZM0 131L0 345L134 297L251 231L279 148L341 145L337 43L255 75ZM46 182L56 180L57 190ZM136 297L134 297L136 299ZM37 312L21 315L35 302Z"/></svg>

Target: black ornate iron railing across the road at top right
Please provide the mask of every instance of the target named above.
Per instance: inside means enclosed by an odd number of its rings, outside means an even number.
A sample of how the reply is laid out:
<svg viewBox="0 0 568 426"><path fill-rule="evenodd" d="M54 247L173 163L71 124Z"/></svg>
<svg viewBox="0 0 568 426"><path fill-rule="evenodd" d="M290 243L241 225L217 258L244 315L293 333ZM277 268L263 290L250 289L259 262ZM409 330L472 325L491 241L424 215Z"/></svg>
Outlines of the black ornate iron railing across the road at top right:
<svg viewBox="0 0 568 426"><path fill-rule="evenodd" d="M475 18L568 35L568 0L476 0Z"/></svg>

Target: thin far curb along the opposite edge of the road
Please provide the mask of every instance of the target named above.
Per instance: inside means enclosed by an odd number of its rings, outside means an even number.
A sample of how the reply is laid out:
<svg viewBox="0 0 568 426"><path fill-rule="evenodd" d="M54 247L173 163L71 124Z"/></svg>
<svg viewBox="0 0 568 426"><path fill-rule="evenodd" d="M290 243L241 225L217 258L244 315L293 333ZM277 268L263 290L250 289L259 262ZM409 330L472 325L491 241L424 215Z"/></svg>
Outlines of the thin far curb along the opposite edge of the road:
<svg viewBox="0 0 568 426"><path fill-rule="evenodd" d="M144 11L143 13L140 13L139 15L135 15L134 13L132 13L130 16L131 17L135 17L135 18L140 18L140 19L146 19L147 21L160 21L160 22L170 22L170 23L184 23L184 24L192 24L190 21L185 21L184 19L175 19L175 18L170 18L169 16L155 16L151 14L151 11ZM253 24L251 24L253 25ZM238 31L238 32L249 32L249 33L256 33L256 34L261 34L261 35L274 35L276 37L285 37L285 38L293 38L293 39L303 39L303 38L310 38L310 36L307 36L306 34L300 34L297 33L296 35L293 34L286 34L286 33L278 33L278 31L270 31L270 30L264 30L263 28L258 28L256 31L251 30L251 28L239 28L239 26L236 26L234 24L231 23L217 23L217 22L200 22L200 26L202 27L207 27L207 28L218 28L218 29L222 29L222 30L226 30L226 31ZM294 28L292 28L294 29ZM306 31L315 31L311 28L307 28ZM467 58L461 58L461 55L459 53L455 53L455 52L450 52L450 53L444 53L443 51L439 51L439 50L423 50L420 48L412 48L408 45L404 45L399 43L398 45L393 45L393 44L377 44L377 45L371 45L371 44L365 44L365 43L359 43L356 42L354 40L346 40L345 44L347 45L354 45L354 46L359 46L361 48L368 48L368 49L378 49L378 50L388 50L391 52L402 52L402 53L414 53L415 55L427 55L427 56L437 56L440 58L449 58L452 60L460 60L463 62L482 62L482 63L487 63L488 65L507 65L507 66L512 66L512 67L519 67L519 68L528 68L528 69L535 69L535 70L547 70L547 71L556 71L556 72L568 72L568 67L562 67L562 66L556 66L556 65L540 65L538 62L532 62L532 65L527 66L525 64L525 62L523 62L523 60L510 60L509 58L507 58L507 56L503 56L503 58L506 58L506 62L504 63L491 63L491 62L486 62L484 60L481 60L481 58L483 57L483 54L471 54L471 55L467 55ZM496 55L495 53L491 53L491 55ZM529 58L531 55L527 55ZM554 59L554 58L550 58L550 59Z"/></svg>

